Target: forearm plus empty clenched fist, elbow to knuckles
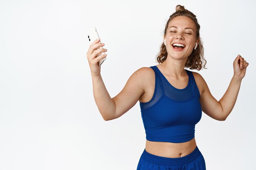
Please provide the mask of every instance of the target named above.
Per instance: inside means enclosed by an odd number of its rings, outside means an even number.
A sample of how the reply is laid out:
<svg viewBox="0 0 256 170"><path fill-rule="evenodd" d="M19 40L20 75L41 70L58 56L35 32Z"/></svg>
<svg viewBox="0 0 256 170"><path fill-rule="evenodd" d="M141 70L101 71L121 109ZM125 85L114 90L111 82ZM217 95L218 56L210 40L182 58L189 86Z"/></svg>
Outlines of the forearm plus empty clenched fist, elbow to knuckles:
<svg viewBox="0 0 256 170"><path fill-rule="evenodd" d="M240 89L240 85L243 77L245 77L245 72L248 65L249 63L246 62L246 60L239 54L233 62L234 75L231 79L229 87L227 88L227 91L219 100L222 106L222 112L225 119L228 117L228 115L231 113L231 110L234 108L238 92Z"/></svg>

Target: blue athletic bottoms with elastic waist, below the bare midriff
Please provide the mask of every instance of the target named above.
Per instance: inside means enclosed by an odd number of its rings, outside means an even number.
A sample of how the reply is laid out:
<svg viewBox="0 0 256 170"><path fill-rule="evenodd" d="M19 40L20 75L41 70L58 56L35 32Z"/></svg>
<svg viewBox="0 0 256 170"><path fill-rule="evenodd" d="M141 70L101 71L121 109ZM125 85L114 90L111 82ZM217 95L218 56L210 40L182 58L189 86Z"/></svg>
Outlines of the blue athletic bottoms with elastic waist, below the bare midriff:
<svg viewBox="0 0 256 170"><path fill-rule="evenodd" d="M198 146L189 155L180 158L160 157L144 149L137 170L206 170L206 166Z"/></svg>

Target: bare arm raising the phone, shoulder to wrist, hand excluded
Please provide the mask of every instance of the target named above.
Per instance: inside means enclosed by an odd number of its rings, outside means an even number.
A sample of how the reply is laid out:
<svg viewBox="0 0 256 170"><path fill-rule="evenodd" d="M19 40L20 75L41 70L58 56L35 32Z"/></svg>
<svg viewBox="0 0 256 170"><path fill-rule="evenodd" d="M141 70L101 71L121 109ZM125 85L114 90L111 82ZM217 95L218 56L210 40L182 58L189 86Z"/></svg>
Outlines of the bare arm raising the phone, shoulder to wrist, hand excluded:
<svg viewBox="0 0 256 170"><path fill-rule="evenodd" d="M126 82L122 91L111 98L101 75L92 76L93 95L99 112L104 120L121 117L132 108L144 94L145 73L150 68L139 68Z"/></svg>

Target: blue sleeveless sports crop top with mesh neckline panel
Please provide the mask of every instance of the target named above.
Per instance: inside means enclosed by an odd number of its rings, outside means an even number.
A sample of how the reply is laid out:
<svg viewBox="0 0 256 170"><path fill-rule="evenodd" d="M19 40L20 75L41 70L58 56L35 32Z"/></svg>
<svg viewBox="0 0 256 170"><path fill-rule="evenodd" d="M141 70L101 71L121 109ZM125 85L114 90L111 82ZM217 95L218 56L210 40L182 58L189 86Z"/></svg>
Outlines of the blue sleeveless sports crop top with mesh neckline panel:
<svg viewBox="0 0 256 170"><path fill-rule="evenodd" d="M173 87L157 66L155 72L155 91L149 102L139 102L141 117L149 141L182 143L195 137L195 124L202 117L199 102L200 92L193 73L188 85L183 89Z"/></svg>

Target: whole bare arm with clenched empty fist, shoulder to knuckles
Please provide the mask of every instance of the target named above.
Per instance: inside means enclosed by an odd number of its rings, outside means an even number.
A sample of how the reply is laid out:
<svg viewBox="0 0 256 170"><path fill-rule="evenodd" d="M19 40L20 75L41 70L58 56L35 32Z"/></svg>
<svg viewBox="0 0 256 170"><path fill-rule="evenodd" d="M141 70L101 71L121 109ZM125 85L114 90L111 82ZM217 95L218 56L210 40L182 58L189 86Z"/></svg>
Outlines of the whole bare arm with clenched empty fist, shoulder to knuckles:
<svg viewBox="0 0 256 170"><path fill-rule="evenodd" d="M239 67L240 64L242 65L242 68ZM231 113L236 103L236 98L238 96L241 81L243 77L245 77L245 71L248 65L249 63L247 63L243 57L241 57L240 55L236 57L233 63L234 75L231 79L226 93L219 101L216 100L213 95L211 95L209 87L205 82L204 78L199 73L193 72L194 77L198 81L200 89L202 89L202 93L200 95L200 104L202 107L202 111L205 114L219 121L227 119L228 115Z"/></svg>

